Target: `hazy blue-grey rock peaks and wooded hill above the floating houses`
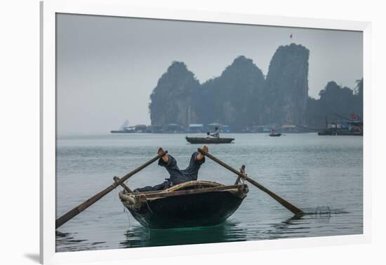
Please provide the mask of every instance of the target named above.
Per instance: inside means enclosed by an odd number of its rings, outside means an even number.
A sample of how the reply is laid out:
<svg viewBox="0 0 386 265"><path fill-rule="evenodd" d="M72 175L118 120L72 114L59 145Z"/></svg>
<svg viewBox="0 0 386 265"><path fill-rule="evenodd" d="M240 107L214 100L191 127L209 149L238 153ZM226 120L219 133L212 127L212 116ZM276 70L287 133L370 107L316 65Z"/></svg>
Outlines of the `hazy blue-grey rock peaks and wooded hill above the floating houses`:
<svg viewBox="0 0 386 265"><path fill-rule="evenodd" d="M321 91L320 100L308 97L309 54L294 43L280 46L266 79L252 60L239 56L220 76L202 85L183 62L173 62L150 96L152 125L218 122L241 131L250 125L321 123L327 109L343 114L358 105L360 111L361 80L355 97L352 90L334 83Z"/></svg>

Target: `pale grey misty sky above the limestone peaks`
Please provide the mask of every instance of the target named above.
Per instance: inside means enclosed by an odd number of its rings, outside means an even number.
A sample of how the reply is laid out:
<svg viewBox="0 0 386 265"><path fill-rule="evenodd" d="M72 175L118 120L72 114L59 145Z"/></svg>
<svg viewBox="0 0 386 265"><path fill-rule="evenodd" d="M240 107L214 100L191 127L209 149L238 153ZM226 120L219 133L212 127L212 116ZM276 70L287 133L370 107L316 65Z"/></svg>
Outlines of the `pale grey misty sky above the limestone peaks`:
<svg viewBox="0 0 386 265"><path fill-rule="evenodd" d="M175 60L200 83L239 55L266 75L275 50L293 42L310 50L311 97L328 81L354 88L363 76L361 32L66 14L56 21L58 135L108 133L126 119L149 125L149 95Z"/></svg>

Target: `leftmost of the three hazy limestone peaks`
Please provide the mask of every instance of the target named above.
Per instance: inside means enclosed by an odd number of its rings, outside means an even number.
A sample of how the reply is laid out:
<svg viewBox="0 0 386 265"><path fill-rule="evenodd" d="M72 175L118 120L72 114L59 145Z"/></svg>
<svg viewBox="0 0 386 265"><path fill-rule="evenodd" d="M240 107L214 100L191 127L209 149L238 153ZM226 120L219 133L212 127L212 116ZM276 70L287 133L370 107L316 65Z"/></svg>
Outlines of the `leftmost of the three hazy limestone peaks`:
<svg viewBox="0 0 386 265"><path fill-rule="evenodd" d="M188 125L197 122L192 97L198 94L199 88L199 81L186 65L183 62L173 62L150 95L152 125Z"/></svg>

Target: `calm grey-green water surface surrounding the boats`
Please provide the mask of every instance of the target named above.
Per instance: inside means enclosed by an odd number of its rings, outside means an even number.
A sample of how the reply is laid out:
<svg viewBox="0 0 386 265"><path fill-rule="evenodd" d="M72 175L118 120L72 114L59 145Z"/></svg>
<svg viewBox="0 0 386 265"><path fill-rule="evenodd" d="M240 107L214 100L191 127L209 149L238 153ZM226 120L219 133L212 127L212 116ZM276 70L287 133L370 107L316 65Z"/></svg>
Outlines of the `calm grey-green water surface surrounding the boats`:
<svg viewBox="0 0 386 265"><path fill-rule="evenodd" d="M224 135L223 135L224 136ZM234 144L209 151L234 168L308 212L293 218L279 203L249 184L239 209L218 226L193 229L144 229L119 201L120 188L62 225L56 251L102 250L275 238L363 233L363 138L288 134L227 134ZM56 217L168 149L185 168L199 145L180 134L66 136L57 140ZM224 136L225 137L225 136ZM157 162L131 177L132 189L159 184L168 174ZM234 174L207 158L199 179L233 184Z"/></svg>

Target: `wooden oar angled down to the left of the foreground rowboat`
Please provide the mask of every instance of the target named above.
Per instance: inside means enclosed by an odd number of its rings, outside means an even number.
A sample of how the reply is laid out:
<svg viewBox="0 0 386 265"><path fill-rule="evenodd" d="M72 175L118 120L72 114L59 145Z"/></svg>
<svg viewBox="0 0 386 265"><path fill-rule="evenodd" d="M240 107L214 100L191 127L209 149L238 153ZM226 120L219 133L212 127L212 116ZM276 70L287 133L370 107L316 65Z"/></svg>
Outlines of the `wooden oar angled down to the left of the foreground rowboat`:
<svg viewBox="0 0 386 265"><path fill-rule="evenodd" d="M107 193L109 193L113 189L117 188L117 186L119 186L122 183L126 182L126 180L129 177L133 176L137 172L140 172L140 170L142 170L142 169L146 168L148 165L154 163L154 161L157 161L159 158L161 158L162 156L166 155L167 153L168 153L168 151L164 151L164 154L159 154L158 156L150 159L149 161L147 161L145 164L141 165L140 167L135 168L135 170L132 170L131 172L128 172L126 175L124 175L124 177L122 177L121 179L117 179L116 182L114 182L112 185L108 186L103 191L100 191L99 193L95 194L93 197L89 198L84 203L79 204L74 209L72 209L69 212L67 212L65 215L62 215L61 217L56 219L56 221L55 221L55 229L58 229L58 227L60 227L62 224L65 224L65 222L67 222L69 219L74 218L76 215L78 215L79 213L83 212L88 207L90 207L91 205L93 205L94 203L99 201L100 198L105 196Z"/></svg>

